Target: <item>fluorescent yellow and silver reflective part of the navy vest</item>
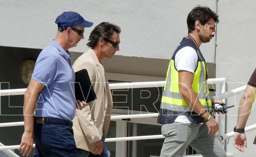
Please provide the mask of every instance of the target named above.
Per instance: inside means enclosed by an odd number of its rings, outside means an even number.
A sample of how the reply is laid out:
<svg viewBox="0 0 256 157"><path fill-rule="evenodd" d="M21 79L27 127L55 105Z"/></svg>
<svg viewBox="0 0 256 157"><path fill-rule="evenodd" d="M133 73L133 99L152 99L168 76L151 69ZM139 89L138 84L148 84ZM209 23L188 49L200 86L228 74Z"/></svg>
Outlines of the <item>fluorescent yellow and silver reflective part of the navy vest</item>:
<svg viewBox="0 0 256 157"><path fill-rule="evenodd" d="M199 102L205 106L205 108L209 109L208 105L209 107L211 106L211 101L208 97L209 89L206 82L206 65L203 61L198 61L197 64L197 69L194 72L192 88L197 94ZM167 77L165 80L160 108L172 111L192 111L183 99L182 95L179 93L178 84L178 71L175 68L174 60L171 59L167 70ZM194 106L194 104L192 104L192 106Z"/></svg>

